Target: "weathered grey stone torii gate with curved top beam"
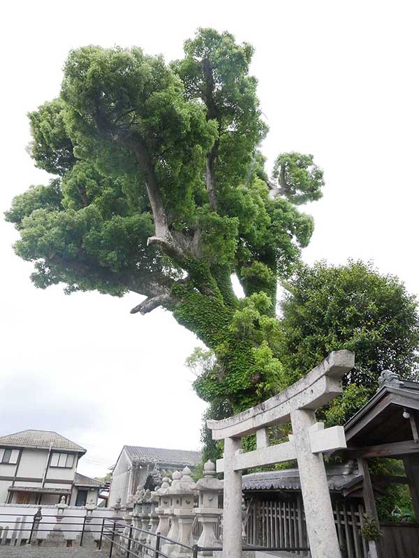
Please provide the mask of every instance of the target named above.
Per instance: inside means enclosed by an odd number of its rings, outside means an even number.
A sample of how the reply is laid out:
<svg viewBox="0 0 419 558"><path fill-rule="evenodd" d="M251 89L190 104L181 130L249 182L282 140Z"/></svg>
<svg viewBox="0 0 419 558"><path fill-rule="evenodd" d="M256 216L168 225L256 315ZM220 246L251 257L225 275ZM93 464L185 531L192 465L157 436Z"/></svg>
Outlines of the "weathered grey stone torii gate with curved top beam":
<svg viewBox="0 0 419 558"><path fill-rule="evenodd" d="M224 473L223 558L242 555L242 469L297 459L312 558L341 556L322 452L346 448L344 428L324 428L315 411L342 392L341 379L355 355L335 351L307 376L256 407L222 421L207 421L214 440L224 440L216 463ZM290 422L289 442L269 445L267 428ZM242 437L256 433L255 451L243 453Z"/></svg>

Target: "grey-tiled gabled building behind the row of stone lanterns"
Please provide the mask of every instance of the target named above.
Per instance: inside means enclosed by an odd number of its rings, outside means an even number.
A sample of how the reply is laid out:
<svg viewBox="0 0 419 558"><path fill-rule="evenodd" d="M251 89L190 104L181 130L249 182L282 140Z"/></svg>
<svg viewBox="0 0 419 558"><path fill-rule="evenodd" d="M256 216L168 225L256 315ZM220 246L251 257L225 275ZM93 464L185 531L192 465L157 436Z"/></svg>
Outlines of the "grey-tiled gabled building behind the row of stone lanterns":
<svg viewBox="0 0 419 558"><path fill-rule="evenodd" d="M112 471L109 506L118 498L124 505L130 495L135 494L138 485L153 483L153 476L159 472L173 472L188 465L192 470L201 462L200 451L182 449L144 448L124 446Z"/></svg>

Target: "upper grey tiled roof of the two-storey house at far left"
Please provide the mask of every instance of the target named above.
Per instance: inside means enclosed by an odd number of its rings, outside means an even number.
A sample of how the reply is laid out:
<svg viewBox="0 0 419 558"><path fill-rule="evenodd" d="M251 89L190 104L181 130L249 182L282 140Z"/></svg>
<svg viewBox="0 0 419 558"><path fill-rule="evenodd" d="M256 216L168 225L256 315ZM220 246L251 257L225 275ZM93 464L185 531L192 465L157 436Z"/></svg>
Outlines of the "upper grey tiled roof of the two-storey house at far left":
<svg viewBox="0 0 419 558"><path fill-rule="evenodd" d="M86 453L82 446L49 430L22 430L6 436L0 436L0 446L15 446L23 448L62 449Z"/></svg>

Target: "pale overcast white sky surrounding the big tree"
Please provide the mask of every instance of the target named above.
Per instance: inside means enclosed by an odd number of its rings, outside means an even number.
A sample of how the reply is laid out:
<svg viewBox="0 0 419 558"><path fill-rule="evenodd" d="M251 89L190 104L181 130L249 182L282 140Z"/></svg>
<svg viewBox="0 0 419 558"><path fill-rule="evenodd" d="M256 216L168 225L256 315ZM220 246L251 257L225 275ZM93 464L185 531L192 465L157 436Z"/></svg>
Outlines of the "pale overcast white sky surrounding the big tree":
<svg viewBox="0 0 419 558"><path fill-rule="evenodd" d="M25 152L27 112L57 96L71 48L138 45L182 56L198 27L256 48L270 125L263 151L314 153L327 187L304 259L374 259L411 292L418 278L418 3L415 1L57 1L2 8L0 211L47 178ZM198 342L168 312L130 315L136 295L35 289L0 221L0 435L57 430L105 474L123 444L199 448L203 402L184 367Z"/></svg>

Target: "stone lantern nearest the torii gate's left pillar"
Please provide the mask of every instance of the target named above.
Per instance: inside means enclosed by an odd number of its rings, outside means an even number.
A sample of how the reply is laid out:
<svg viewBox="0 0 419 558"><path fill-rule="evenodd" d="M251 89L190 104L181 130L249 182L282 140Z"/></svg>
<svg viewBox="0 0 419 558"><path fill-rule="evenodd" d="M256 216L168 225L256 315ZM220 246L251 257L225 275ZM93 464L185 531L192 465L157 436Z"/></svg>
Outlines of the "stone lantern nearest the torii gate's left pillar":
<svg viewBox="0 0 419 558"><path fill-rule="evenodd" d="M204 477L196 483L199 493L198 508L193 510L198 515L198 523L203 526L203 531L198 540L198 546L219 546L216 538L216 527L223 510L219 509L219 494L223 492L223 483L216 478L215 465L208 460L204 465ZM212 555L211 550L203 551L205 556Z"/></svg>

